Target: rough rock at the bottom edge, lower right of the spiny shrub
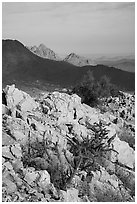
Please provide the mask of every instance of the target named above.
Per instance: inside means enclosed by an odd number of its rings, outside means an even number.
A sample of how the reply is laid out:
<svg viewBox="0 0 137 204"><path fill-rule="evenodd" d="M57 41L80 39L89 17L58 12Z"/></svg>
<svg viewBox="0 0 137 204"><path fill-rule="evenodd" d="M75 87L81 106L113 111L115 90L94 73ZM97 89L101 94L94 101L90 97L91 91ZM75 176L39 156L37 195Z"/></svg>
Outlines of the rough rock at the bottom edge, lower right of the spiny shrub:
<svg viewBox="0 0 137 204"><path fill-rule="evenodd" d="M109 175L103 168L101 168L101 172L92 173L94 176L89 184L90 200L96 198L97 202L127 201L127 198L123 198L123 195L121 194L119 189L119 179L116 175ZM129 194L128 199L130 201L132 200Z"/></svg>

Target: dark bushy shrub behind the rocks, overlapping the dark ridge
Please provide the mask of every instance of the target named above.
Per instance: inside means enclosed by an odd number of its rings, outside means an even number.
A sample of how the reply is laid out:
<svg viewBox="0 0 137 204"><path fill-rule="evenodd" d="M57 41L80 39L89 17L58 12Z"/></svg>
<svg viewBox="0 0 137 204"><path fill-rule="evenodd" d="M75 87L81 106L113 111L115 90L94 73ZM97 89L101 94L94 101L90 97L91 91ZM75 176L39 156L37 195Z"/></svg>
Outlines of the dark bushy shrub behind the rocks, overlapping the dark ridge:
<svg viewBox="0 0 137 204"><path fill-rule="evenodd" d="M101 98L118 96L119 90L116 85L110 83L107 76L104 75L99 81L96 81L93 73L88 71L83 81L73 88L72 93L78 94L82 103L94 107L102 103Z"/></svg>

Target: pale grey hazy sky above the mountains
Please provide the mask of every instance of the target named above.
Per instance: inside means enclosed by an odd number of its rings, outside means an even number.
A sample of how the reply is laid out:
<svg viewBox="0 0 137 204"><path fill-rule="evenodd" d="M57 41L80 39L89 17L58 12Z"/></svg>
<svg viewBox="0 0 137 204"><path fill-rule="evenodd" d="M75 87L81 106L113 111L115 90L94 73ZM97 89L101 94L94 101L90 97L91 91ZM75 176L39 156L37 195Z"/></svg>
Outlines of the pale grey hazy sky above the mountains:
<svg viewBox="0 0 137 204"><path fill-rule="evenodd" d="M133 54L134 3L2 4L3 38L45 44L59 54Z"/></svg>

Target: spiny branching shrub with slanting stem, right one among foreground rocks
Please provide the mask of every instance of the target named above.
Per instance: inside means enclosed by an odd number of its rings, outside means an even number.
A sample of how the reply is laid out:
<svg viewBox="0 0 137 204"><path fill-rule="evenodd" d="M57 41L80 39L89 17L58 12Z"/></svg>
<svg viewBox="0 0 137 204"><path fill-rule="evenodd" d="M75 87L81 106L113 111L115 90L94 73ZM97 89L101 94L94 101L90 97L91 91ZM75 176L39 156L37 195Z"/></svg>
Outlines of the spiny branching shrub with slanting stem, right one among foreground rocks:
<svg viewBox="0 0 137 204"><path fill-rule="evenodd" d="M104 125L99 122L94 123L88 127L94 133L92 136L87 135L82 141L78 139L70 138L68 141L71 144L70 152L74 155L73 171L70 177L66 181L66 185L69 185L78 171L86 171L88 174L91 171L100 171L100 164L97 158L105 157L106 152L115 151L111 148L111 142L108 138L108 130ZM108 139L106 143L105 140ZM116 151L115 151L116 152ZM116 152L118 154L118 152Z"/></svg>

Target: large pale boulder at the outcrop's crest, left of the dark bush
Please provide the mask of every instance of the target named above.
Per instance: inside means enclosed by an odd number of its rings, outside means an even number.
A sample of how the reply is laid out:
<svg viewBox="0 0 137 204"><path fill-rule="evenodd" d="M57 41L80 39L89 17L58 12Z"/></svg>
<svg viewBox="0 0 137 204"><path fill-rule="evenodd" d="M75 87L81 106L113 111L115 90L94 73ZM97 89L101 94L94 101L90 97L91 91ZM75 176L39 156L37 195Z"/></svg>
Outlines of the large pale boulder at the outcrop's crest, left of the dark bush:
<svg viewBox="0 0 137 204"><path fill-rule="evenodd" d="M70 96L66 93L53 92L49 94L42 103L43 107L48 107L50 114L54 115L61 122L71 122L79 119L83 113L80 113L81 98L76 94ZM77 114L77 110L80 114ZM49 111L48 111L49 113Z"/></svg>

